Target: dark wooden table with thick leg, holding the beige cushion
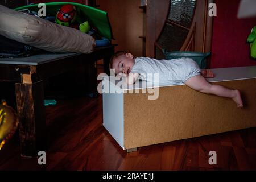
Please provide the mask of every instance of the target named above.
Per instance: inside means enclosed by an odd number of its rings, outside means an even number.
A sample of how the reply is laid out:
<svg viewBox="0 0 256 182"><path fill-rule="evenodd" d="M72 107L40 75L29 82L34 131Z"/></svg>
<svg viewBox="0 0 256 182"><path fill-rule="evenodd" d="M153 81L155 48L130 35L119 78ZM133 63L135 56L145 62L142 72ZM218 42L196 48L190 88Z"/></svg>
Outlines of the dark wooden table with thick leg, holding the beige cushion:
<svg viewBox="0 0 256 182"><path fill-rule="evenodd" d="M46 150L46 116L44 108L44 86L48 78L60 73L75 71L81 67L94 68L97 60L104 60L104 70L108 71L114 46L99 47L89 54L65 53L43 54L24 58L0 59L0 82L14 82L17 112L20 117L19 135L21 155L38 156L38 151ZM95 77L96 69L87 74Z"/></svg>

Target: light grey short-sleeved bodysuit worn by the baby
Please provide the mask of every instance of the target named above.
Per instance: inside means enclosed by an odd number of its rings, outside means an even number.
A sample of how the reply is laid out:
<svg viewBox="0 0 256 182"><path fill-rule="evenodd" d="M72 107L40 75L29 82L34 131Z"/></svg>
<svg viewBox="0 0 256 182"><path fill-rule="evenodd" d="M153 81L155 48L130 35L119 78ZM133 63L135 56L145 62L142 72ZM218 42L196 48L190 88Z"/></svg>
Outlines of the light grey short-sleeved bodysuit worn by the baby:
<svg viewBox="0 0 256 182"><path fill-rule="evenodd" d="M139 73L139 78L142 80L175 85L200 75L200 72L201 69L197 63L190 58L157 60L137 57L130 73ZM159 73L159 80L155 79L154 73Z"/></svg>

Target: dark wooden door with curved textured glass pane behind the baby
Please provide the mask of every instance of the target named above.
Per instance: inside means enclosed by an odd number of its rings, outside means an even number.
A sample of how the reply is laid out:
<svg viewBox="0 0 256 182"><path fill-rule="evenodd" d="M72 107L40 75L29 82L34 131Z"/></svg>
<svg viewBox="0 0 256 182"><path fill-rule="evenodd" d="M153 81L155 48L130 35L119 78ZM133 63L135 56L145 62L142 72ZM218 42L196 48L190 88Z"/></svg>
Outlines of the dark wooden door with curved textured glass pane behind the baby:
<svg viewBox="0 0 256 182"><path fill-rule="evenodd" d="M147 4L146 56L163 58L168 51L209 52L213 0L151 0Z"/></svg>

